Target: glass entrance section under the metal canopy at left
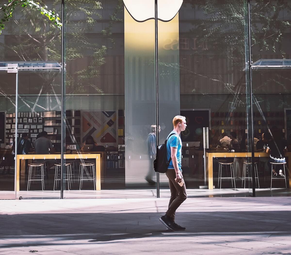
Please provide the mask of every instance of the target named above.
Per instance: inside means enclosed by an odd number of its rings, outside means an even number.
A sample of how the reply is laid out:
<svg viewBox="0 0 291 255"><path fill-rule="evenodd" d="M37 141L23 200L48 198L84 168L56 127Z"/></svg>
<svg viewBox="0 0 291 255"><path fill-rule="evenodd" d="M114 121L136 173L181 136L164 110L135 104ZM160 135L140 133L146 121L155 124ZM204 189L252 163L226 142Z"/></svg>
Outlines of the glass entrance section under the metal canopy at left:
<svg viewBox="0 0 291 255"><path fill-rule="evenodd" d="M0 68L5 198L60 198L54 184L61 171L61 66L21 62L0 63ZM56 114L48 116L52 110Z"/></svg>

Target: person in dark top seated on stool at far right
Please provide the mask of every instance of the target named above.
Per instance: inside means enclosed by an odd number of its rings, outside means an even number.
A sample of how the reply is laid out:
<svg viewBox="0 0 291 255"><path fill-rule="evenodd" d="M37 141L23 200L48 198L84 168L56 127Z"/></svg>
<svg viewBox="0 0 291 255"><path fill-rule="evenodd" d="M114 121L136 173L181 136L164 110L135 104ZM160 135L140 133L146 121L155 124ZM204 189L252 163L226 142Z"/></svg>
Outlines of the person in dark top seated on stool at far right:
<svg viewBox="0 0 291 255"><path fill-rule="evenodd" d="M284 163L285 156L284 153L287 152L287 141L283 138L282 132L280 132L278 129L272 131L273 140L269 141L267 145L267 153L270 153L270 159L268 161L269 170L271 171L272 166L272 172L273 177L285 177L283 175L283 171L281 168L283 168L282 165L277 165L277 168L274 169L275 165L272 165L271 163ZM279 170L278 170L279 169Z"/></svg>

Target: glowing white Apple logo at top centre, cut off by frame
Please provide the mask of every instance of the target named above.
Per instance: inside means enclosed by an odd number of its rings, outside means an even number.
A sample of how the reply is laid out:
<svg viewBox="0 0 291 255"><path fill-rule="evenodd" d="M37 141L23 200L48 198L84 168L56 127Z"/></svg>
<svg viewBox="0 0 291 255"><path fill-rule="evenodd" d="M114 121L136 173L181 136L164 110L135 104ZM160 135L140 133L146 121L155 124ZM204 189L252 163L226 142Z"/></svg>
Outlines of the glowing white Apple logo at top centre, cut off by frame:
<svg viewBox="0 0 291 255"><path fill-rule="evenodd" d="M138 22L155 18L155 0L123 0L123 3L132 18ZM158 20L172 20L182 3L183 0L158 0Z"/></svg>

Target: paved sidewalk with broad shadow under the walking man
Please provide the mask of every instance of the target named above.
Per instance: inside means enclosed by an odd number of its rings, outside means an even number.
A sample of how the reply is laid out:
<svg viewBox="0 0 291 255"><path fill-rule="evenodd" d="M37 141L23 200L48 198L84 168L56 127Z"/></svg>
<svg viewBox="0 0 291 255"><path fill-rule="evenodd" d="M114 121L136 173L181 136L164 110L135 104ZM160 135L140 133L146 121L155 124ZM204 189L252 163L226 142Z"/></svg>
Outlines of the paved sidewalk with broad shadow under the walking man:
<svg viewBox="0 0 291 255"><path fill-rule="evenodd" d="M291 198L0 200L0 254L291 254Z"/></svg>

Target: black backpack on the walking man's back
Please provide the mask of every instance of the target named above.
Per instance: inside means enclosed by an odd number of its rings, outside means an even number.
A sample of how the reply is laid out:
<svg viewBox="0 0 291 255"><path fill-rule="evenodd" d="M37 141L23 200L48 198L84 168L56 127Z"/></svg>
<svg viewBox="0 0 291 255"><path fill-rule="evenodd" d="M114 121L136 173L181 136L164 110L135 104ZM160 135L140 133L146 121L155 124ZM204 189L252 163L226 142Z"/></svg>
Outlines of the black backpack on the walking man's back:
<svg viewBox="0 0 291 255"><path fill-rule="evenodd" d="M172 136L175 135L175 133L171 133L171 135L168 137L168 139ZM168 166L171 162L171 157L168 160L167 157L167 142L168 139L165 141L164 144L159 145L157 147L157 154L156 154L156 159L154 160L154 170L157 173L166 173L168 170Z"/></svg>

